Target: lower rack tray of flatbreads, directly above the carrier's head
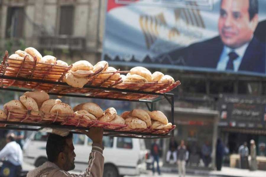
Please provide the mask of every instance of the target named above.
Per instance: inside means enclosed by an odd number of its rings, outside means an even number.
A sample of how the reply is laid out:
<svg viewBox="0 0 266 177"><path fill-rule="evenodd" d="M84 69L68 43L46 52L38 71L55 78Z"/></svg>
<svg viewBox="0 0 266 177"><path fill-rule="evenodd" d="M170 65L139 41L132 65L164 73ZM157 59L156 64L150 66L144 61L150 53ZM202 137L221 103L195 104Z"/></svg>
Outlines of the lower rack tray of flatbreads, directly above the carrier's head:
<svg viewBox="0 0 266 177"><path fill-rule="evenodd" d="M75 129L103 127L104 130L129 134L166 135L175 128L160 111L133 109L118 115L110 107L103 111L95 103L82 103L72 108L60 99L50 99L45 91L25 92L0 110L0 123L34 123L36 126L75 126Z"/></svg>

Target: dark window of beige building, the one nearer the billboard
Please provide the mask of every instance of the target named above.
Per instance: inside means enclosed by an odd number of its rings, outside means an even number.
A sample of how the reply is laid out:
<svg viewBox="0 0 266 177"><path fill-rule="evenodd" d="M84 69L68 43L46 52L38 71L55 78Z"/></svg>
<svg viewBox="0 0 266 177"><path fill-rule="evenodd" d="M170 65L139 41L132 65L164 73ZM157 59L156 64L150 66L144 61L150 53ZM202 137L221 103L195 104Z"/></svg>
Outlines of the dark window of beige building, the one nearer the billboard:
<svg viewBox="0 0 266 177"><path fill-rule="evenodd" d="M74 6L61 6L59 35L72 35Z"/></svg>

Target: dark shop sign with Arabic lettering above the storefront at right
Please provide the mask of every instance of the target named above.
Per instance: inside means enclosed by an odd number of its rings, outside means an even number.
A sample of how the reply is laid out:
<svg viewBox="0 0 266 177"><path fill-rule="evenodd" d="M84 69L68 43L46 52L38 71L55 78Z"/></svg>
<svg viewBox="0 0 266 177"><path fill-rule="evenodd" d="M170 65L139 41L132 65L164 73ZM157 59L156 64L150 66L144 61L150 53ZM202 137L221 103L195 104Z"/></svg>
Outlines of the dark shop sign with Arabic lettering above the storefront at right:
<svg viewBox="0 0 266 177"><path fill-rule="evenodd" d="M220 126L266 128L266 97L220 95L218 101Z"/></svg>

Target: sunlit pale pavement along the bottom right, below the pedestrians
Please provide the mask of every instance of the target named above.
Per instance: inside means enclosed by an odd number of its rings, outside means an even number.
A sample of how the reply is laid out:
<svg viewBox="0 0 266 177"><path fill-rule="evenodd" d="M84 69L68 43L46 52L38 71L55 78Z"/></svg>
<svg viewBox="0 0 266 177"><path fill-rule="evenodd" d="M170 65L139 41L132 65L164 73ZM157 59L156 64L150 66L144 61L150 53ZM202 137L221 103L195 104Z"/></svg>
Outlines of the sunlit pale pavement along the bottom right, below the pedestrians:
<svg viewBox="0 0 266 177"><path fill-rule="evenodd" d="M177 166L162 166L161 171L163 173L178 173ZM266 177L266 171L249 171L239 168L222 167L221 171L208 171L198 169L186 169L186 173L190 175L200 176L222 176L222 177Z"/></svg>

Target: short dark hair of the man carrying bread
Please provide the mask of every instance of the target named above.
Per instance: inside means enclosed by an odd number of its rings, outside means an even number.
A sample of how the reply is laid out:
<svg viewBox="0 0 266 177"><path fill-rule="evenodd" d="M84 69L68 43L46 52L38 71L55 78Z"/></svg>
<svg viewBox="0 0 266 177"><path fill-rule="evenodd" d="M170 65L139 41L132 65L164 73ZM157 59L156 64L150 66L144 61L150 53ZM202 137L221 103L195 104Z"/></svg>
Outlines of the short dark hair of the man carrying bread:
<svg viewBox="0 0 266 177"><path fill-rule="evenodd" d="M69 132L69 135L62 137L51 133L48 137L46 144L46 154L50 162L55 162L60 152L63 152L67 146L67 139L73 137L73 133Z"/></svg>

